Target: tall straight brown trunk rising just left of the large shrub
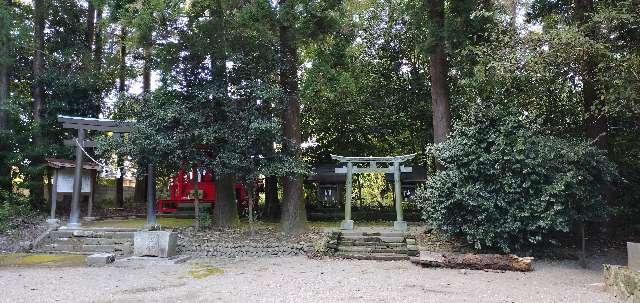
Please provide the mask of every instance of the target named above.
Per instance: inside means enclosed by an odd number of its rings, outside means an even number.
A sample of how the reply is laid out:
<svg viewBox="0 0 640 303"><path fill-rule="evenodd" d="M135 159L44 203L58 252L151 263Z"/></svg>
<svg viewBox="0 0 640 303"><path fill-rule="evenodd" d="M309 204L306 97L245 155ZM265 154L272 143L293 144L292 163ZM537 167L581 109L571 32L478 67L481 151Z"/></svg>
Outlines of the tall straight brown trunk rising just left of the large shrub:
<svg viewBox="0 0 640 303"><path fill-rule="evenodd" d="M449 89L447 84L447 53L444 36L444 0L427 0L434 43L429 56L431 72L431 102L433 110L433 142L440 143L451 132Z"/></svg>

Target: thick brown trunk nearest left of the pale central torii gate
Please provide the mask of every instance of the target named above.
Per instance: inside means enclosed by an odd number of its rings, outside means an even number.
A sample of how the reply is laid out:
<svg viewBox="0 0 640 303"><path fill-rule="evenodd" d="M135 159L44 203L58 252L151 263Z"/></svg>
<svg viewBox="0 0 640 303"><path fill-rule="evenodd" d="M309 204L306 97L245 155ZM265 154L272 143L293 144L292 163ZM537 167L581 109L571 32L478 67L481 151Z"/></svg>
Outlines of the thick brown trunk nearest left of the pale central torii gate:
<svg viewBox="0 0 640 303"><path fill-rule="evenodd" d="M281 15L293 15L293 7L287 0L279 1ZM283 134L287 141L285 149L295 157L300 157L300 100L298 97L298 50L295 34L288 21L280 24L280 86L284 93L285 112ZM297 234L304 230L307 212L304 205L302 176L291 174L282 178L284 191L280 222L286 234Z"/></svg>

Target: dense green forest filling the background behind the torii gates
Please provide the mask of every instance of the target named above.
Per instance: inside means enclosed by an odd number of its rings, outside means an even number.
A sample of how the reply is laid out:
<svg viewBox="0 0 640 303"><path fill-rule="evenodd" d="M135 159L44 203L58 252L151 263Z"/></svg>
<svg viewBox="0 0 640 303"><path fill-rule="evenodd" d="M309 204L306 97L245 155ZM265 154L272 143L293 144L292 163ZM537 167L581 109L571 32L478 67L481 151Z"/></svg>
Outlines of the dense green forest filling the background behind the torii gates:
<svg viewBox="0 0 640 303"><path fill-rule="evenodd" d="M220 226L237 220L234 182L267 176L267 207L295 233L310 164L417 153L434 176L425 219L477 247L603 218L626 235L639 16L638 0L2 0L0 191L45 208L44 159L72 156L57 116L101 117L137 121L124 141L91 136L140 181L212 168ZM491 201L538 206L449 220Z"/></svg>

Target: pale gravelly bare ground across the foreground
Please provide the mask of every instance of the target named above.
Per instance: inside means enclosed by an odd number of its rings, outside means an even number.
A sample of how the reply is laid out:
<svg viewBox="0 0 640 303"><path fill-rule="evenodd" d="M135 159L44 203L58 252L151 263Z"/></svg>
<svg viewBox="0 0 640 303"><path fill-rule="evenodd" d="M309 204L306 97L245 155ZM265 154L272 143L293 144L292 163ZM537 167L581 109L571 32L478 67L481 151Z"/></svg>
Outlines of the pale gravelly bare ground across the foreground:
<svg viewBox="0 0 640 303"><path fill-rule="evenodd" d="M196 279L194 269L222 274ZM1 302L616 302L601 270L538 262L531 273L425 269L306 257L119 260L104 268L0 268Z"/></svg>

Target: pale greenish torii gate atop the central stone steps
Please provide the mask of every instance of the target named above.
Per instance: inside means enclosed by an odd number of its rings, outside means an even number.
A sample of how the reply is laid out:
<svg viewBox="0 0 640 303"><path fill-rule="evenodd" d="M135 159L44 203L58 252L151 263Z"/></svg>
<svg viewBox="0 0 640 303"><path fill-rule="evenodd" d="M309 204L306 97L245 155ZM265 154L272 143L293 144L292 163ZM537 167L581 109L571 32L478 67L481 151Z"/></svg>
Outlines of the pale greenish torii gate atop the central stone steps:
<svg viewBox="0 0 640 303"><path fill-rule="evenodd" d="M400 181L401 172L411 172L411 167L405 167L400 163L413 159L416 154L393 156L393 157L343 157L331 155L331 159L347 163L346 167L336 168L336 174L347 174L347 193L344 206L344 221L340 224L340 229L352 230L353 220L351 219L351 195L353 193L353 174L358 173L384 173L393 174L393 185L396 206L396 221L393 222L393 230L406 231L407 222L402 217L402 184ZM379 165L382 166L379 166Z"/></svg>

